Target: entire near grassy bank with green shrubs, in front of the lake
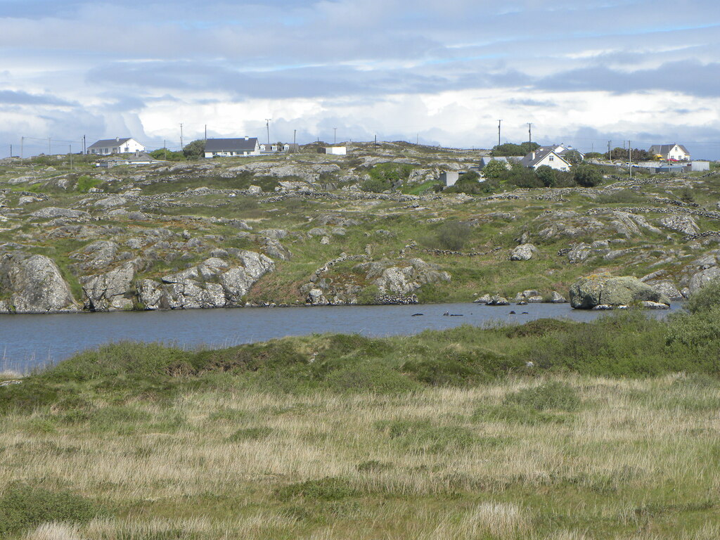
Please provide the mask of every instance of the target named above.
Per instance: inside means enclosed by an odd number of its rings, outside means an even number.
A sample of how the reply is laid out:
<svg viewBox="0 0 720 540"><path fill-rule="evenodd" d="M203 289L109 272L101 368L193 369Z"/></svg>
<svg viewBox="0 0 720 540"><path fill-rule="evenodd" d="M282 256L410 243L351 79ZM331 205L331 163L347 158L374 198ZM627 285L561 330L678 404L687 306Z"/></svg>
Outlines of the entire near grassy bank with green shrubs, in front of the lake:
<svg viewBox="0 0 720 540"><path fill-rule="evenodd" d="M1 536L714 539L717 309L86 351L0 387Z"/></svg>

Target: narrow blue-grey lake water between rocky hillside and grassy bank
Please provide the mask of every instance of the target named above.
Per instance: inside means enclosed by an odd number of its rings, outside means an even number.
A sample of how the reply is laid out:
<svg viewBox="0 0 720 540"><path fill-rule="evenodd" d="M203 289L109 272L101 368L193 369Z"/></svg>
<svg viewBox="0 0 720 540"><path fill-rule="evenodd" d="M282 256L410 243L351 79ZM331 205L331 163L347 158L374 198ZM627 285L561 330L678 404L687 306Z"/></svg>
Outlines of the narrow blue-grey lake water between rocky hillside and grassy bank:
<svg viewBox="0 0 720 540"><path fill-rule="evenodd" d="M676 302L672 309L680 306ZM444 312L458 316L444 316ZM413 317L415 313L423 315ZM34 366L55 363L77 351L114 341L158 341L186 348L222 347L310 333L410 335L462 324L480 326L493 320L589 321L606 313L573 310L569 304L505 307L431 304L0 315L0 369L26 372ZM648 312L655 317L666 314L667 311Z"/></svg>

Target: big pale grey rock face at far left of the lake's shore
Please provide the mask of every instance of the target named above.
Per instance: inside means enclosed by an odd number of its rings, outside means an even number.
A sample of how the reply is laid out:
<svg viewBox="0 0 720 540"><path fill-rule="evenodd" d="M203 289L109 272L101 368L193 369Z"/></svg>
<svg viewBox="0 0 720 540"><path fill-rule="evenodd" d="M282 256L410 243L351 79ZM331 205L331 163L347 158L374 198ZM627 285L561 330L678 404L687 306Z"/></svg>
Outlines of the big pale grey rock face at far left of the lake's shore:
<svg viewBox="0 0 720 540"><path fill-rule="evenodd" d="M78 310L60 269L44 255L4 254L0 260L0 294L8 296L6 311L45 313Z"/></svg>

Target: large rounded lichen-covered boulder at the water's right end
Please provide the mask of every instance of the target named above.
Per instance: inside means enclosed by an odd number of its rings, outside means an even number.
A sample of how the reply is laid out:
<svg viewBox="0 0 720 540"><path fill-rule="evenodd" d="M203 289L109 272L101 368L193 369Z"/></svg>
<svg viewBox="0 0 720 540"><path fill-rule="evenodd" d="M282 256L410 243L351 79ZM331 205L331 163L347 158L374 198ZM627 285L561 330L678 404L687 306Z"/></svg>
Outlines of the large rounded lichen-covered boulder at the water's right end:
<svg viewBox="0 0 720 540"><path fill-rule="evenodd" d="M592 309L598 305L631 305L638 302L670 304L670 299L633 276L593 274L582 277L570 287L570 305Z"/></svg>

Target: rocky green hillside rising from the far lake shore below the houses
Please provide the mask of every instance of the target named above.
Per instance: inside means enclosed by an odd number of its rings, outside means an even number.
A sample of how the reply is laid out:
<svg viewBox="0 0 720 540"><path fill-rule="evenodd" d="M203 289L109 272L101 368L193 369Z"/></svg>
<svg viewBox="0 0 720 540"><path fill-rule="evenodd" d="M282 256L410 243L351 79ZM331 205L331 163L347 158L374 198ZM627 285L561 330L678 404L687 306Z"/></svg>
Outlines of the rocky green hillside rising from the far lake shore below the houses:
<svg viewBox="0 0 720 540"><path fill-rule="evenodd" d="M466 194L438 178L471 171L477 150L304 150L113 168L76 158L72 170L5 161L0 309L551 300L600 271L681 297L720 274L716 171L600 169L594 188ZM518 246L529 259L510 260Z"/></svg>

